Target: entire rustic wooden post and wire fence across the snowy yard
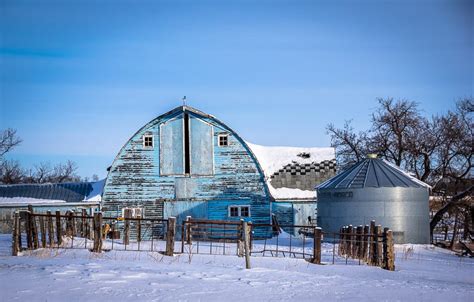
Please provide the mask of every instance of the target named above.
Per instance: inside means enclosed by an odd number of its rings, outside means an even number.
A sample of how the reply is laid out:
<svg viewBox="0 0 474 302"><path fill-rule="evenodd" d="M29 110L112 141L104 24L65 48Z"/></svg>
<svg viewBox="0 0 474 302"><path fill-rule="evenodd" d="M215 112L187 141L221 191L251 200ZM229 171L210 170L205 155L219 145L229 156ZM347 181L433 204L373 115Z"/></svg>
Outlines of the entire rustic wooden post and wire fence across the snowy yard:
<svg viewBox="0 0 474 302"><path fill-rule="evenodd" d="M91 252L151 251L168 256L237 255L245 258L247 268L250 257L293 257L314 264L366 263L395 269L392 231L375 225L375 221L370 226L345 226L339 233L329 233L314 225L276 226L190 216L177 225L174 217L124 216L109 217L100 212L90 216L85 211L40 214L29 206L28 211L15 212L12 255L25 249L70 248Z"/></svg>

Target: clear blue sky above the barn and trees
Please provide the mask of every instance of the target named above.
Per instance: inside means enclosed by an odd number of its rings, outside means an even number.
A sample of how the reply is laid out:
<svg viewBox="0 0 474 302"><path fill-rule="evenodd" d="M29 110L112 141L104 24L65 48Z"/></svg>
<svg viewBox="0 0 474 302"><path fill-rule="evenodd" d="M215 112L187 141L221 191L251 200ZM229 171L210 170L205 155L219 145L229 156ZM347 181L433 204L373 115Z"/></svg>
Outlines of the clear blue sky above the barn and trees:
<svg viewBox="0 0 474 302"><path fill-rule="evenodd" d="M377 97L425 114L473 95L472 1L0 0L0 129L25 166L106 175L143 124L181 104L265 145L328 146Z"/></svg>

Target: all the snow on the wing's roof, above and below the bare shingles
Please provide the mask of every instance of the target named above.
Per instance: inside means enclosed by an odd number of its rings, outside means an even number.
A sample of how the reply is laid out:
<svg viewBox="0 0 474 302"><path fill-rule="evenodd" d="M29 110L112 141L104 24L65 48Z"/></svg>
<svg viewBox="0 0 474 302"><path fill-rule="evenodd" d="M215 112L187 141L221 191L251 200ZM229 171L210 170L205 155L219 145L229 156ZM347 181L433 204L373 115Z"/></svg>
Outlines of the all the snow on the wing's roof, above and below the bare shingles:
<svg viewBox="0 0 474 302"><path fill-rule="evenodd" d="M331 147L269 147L252 143L247 145L257 157L265 174L270 194L275 199L315 199L315 190L301 190L297 188L274 188L270 177L287 165L313 164L335 159L335 150Z"/></svg>

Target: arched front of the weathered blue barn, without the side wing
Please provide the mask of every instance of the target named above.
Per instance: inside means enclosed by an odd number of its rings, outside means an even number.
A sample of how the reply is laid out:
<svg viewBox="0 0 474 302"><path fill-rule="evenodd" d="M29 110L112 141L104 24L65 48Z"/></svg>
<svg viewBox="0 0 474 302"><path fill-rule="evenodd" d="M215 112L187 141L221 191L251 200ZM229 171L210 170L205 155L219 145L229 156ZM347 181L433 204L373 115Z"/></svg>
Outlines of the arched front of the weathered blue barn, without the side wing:
<svg viewBox="0 0 474 302"><path fill-rule="evenodd" d="M190 215L271 223L265 175L249 146L227 125L188 106L138 130L122 147L102 195L102 211L146 218ZM257 236L263 234L256 234Z"/></svg>

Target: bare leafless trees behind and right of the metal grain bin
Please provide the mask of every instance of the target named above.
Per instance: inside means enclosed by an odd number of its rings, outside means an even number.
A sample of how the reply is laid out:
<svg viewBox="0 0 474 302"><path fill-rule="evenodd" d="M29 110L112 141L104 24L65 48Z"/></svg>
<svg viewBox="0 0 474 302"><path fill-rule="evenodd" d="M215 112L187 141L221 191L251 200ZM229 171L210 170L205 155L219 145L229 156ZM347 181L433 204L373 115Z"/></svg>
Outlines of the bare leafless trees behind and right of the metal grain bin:
<svg viewBox="0 0 474 302"><path fill-rule="evenodd" d="M426 118L408 100L378 99L372 127L356 134L349 123L341 129L330 124L331 144L338 162L351 163L366 153L377 153L412 172L443 195L445 203L431 221L431 232L446 215L474 219L472 203L472 155L474 153L473 98L456 102L445 115Z"/></svg>

